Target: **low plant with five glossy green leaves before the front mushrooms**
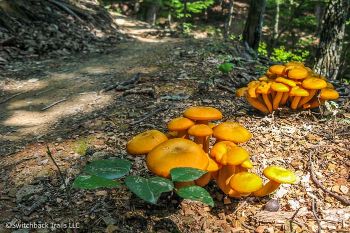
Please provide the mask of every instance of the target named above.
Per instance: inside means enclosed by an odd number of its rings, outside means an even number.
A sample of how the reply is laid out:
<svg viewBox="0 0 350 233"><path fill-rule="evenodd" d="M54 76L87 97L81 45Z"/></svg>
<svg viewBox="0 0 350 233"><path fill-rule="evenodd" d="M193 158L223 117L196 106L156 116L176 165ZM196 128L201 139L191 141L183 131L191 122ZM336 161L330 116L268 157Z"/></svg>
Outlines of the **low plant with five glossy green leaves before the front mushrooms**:
<svg viewBox="0 0 350 233"><path fill-rule="evenodd" d="M82 171L88 176L78 176L72 188L97 189L102 187L120 187L121 184L113 181L130 171L131 163L124 159L105 159L88 164ZM173 168L170 171L172 181L161 177L142 178L139 176L127 176L125 178L126 187L139 198L156 204L160 195L173 190L174 181L194 181L207 173L196 168ZM184 187L185 188L185 187ZM196 200L213 206L210 195L201 187L181 188L180 197Z"/></svg>

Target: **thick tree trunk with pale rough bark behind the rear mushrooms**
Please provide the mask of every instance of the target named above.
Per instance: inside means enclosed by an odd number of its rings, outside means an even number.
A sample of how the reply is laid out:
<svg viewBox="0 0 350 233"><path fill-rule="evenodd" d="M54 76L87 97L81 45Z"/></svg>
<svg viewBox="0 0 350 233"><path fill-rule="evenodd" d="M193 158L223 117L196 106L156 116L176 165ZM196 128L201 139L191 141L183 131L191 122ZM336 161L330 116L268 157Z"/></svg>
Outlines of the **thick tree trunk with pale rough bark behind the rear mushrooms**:
<svg viewBox="0 0 350 233"><path fill-rule="evenodd" d="M348 6L348 0L330 0L325 10L313 69L329 79L338 75Z"/></svg>

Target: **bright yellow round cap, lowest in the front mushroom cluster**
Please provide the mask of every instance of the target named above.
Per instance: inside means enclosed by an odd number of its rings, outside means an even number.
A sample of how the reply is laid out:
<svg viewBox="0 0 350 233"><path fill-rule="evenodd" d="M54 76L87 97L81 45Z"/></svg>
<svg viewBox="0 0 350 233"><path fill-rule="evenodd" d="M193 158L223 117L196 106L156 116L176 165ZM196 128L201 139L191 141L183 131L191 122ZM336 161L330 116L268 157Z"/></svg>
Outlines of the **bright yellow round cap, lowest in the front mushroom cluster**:
<svg viewBox="0 0 350 233"><path fill-rule="evenodd" d="M238 193L251 193L262 187L262 179L250 172L239 172L231 178L229 186Z"/></svg>

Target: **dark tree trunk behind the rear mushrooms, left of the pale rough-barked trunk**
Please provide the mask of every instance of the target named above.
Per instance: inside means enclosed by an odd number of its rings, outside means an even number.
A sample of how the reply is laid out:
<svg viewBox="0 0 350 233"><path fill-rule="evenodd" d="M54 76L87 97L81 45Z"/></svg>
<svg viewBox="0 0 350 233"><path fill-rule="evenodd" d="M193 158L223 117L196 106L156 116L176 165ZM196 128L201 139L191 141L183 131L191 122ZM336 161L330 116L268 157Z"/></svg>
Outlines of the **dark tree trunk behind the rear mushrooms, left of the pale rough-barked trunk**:
<svg viewBox="0 0 350 233"><path fill-rule="evenodd" d="M243 41L255 50L259 47L265 5L266 0L250 0L248 17L243 30Z"/></svg>

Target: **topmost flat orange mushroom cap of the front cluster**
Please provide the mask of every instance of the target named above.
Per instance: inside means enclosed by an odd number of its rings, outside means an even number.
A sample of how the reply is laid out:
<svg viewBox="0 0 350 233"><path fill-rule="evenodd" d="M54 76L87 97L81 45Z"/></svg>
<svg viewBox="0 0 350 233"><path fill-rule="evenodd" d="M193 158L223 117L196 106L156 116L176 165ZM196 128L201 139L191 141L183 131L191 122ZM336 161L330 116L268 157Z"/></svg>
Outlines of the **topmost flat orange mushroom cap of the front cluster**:
<svg viewBox="0 0 350 233"><path fill-rule="evenodd" d="M183 116L192 120L218 120L222 113L212 107L191 107L183 112Z"/></svg>

